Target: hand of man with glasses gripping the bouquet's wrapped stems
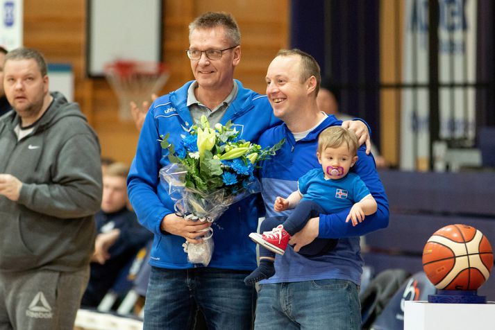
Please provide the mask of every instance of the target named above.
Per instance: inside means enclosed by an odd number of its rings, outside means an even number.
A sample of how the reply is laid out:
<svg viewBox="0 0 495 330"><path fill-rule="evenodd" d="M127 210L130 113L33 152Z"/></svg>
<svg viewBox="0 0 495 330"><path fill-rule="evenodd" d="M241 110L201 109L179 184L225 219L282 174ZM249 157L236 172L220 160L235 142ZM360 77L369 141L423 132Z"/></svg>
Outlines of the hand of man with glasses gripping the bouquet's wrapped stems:
<svg viewBox="0 0 495 330"><path fill-rule="evenodd" d="M187 220L176 214L167 214L162 219L160 229L173 235L183 236L189 243L201 243L202 237L208 234L207 230L212 224L208 221Z"/></svg>

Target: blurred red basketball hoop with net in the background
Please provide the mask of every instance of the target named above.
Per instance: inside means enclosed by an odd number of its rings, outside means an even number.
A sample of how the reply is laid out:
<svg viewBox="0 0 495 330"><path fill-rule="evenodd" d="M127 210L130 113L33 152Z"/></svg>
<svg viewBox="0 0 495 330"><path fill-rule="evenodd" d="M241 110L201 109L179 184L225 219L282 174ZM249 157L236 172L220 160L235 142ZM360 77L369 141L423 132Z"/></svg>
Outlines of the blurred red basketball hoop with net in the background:
<svg viewBox="0 0 495 330"><path fill-rule="evenodd" d="M144 101L151 101L151 94L159 92L170 76L163 63L131 60L106 64L104 72L119 98L119 118L123 121L132 119L131 101L138 107Z"/></svg>

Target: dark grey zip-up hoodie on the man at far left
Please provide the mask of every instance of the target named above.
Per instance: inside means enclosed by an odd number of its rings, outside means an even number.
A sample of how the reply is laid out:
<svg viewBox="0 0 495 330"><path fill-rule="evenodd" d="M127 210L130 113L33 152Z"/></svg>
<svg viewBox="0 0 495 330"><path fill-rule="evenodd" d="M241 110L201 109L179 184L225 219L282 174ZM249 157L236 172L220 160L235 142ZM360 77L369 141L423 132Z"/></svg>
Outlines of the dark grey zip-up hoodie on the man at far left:
<svg viewBox="0 0 495 330"><path fill-rule="evenodd" d="M23 182L19 200L0 196L0 272L80 270L94 249L101 205L100 146L76 103L53 102L17 141L19 116L0 119L0 173Z"/></svg>

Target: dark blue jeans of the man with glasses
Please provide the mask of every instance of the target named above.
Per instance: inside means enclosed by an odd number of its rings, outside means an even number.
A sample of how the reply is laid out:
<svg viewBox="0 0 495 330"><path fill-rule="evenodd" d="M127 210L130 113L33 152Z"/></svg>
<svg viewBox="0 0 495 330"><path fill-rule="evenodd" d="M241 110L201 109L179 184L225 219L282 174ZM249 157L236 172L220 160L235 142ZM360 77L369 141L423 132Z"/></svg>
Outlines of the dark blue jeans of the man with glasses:
<svg viewBox="0 0 495 330"><path fill-rule="evenodd" d="M255 290L244 284L248 274L217 268L151 268L143 329L194 329L198 309L208 329L251 329Z"/></svg>

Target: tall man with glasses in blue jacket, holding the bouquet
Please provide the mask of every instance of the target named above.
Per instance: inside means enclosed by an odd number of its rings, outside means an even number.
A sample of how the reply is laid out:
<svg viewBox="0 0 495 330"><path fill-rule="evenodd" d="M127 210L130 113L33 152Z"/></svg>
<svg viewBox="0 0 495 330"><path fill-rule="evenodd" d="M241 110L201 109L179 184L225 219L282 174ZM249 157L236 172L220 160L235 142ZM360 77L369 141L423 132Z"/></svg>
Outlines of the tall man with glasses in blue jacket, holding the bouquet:
<svg viewBox="0 0 495 330"><path fill-rule="evenodd" d="M248 237L258 226L256 196L237 202L217 220L221 229L215 230L208 267L189 263L184 239L199 243L211 224L175 214L174 202L158 178L169 159L157 140L169 134L169 141L178 146L184 130L199 123L202 115L210 125L232 121L246 141L258 141L279 120L267 96L234 80L241 58L235 19L225 12L206 12L189 30L186 53L195 80L153 102L128 176L137 218L154 234L144 329L192 329L198 309L208 329L251 329L255 290L243 280L257 266L255 244Z"/></svg>

